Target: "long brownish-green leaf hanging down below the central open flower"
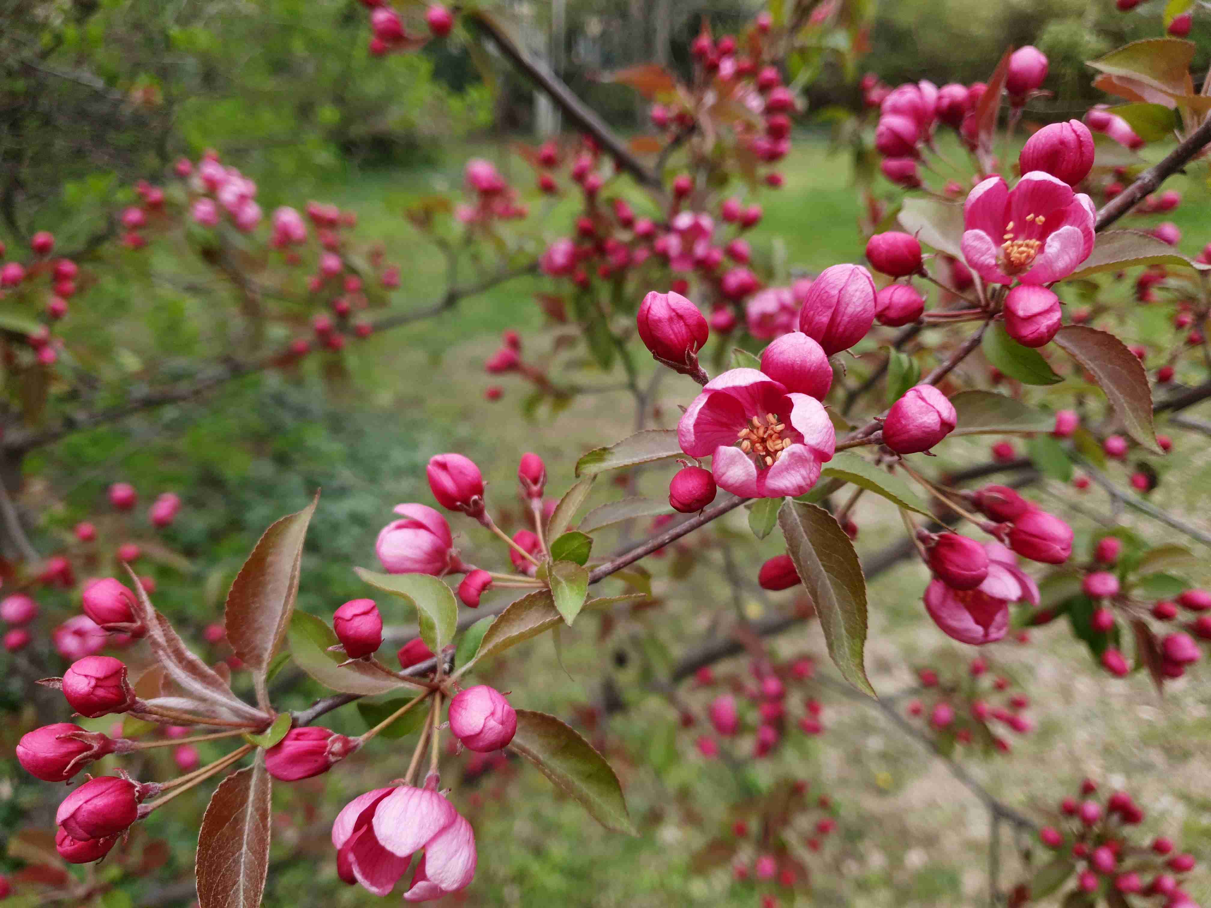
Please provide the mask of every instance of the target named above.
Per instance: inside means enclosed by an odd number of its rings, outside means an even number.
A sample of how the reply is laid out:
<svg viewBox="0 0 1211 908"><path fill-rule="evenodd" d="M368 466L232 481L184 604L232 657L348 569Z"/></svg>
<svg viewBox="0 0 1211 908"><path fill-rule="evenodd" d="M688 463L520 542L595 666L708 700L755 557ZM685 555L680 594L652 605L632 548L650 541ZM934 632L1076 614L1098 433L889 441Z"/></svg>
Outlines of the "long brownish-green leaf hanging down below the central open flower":
<svg viewBox="0 0 1211 908"><path fill-rule="evenodd" d="M854 544L833 516L815 505L787 501L777 523L816 608L828 655L850 684L873 697L874 688L862 665L866 579Z"/></svg>

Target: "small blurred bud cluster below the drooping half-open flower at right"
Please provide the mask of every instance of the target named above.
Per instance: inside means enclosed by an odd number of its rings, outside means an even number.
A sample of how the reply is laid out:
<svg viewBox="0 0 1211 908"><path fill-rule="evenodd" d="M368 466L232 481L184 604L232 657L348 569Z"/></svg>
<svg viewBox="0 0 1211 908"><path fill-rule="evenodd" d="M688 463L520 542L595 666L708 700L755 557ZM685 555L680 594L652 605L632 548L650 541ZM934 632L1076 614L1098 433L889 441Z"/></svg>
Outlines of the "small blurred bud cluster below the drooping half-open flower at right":
<svg viewBox="0 0 1211 908"><path fill-rule="evenodd" d="M1034 730L1023 714L1029 700L1014 691L1009 678L991 674L988 662L981 656L953 678L942 679L932 668L919 669L917 677L924 693L909 700L906 711L926 723L940 747L976 745L986 753L1009 753L1011 745L997 734L994 723L1017 735Z"/></svg>

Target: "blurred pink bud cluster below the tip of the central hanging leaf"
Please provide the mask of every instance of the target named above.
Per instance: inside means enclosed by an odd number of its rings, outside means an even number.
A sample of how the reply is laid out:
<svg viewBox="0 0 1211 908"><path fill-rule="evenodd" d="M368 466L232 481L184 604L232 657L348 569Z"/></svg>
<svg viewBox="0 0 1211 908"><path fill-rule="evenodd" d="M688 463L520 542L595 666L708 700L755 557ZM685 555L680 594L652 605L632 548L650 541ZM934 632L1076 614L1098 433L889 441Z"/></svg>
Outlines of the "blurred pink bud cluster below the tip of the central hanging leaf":
<svg viewBox="0 0 1211 908"><path fill-rule="evenodd" d="M704 734L695 740L702 757L714 759L723 746L721 740L730 741L747 735L750 730L753 732L754 759L768 757L792 730L791 726L810 736L823 732L823 706L814 696L810 684L816 672L815 660L796 656L776 665L754 660L750 672L751 679L747 680L735 676L717 678L708 666L695 673L696 689L722 686L728 691L716 694L707 703L706 714L714 734ZM745 709L742 717L741 702L745 701L752 709ZM693 716L683 713L682 724L693 725Z"/></svg>

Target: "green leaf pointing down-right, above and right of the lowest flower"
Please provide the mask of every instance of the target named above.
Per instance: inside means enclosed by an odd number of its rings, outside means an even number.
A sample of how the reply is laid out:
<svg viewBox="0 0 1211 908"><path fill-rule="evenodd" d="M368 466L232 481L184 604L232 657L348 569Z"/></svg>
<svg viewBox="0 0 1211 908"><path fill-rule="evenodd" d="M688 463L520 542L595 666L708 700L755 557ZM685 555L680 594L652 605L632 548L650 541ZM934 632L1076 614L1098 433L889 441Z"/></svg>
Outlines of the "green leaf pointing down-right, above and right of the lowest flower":
<svg viewBox="0 0 1211 908"><path fill-rule="evenodd" d="M517 711L517 734L510 743L564 794L570 795L607 829L636 835L626 811L622 786L606 758L553 716Z"/></svg>

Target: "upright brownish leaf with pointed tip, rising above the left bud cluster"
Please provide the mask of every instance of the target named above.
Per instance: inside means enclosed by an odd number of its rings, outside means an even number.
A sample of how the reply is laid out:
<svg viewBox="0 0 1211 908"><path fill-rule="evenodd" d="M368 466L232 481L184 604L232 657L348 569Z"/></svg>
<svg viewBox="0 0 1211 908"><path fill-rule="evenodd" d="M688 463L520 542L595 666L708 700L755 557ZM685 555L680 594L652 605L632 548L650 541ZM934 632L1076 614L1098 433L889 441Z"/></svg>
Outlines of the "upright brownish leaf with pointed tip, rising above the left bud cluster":
<svg viewBox="0 0 1211 908"><path fill-rule="evenodd" d="M303 542L318 501L316 492L310 505L266 529L228 591L223 626L235 654L253 673L262 708L269 706L265 676L294 611Z"/></svg>

